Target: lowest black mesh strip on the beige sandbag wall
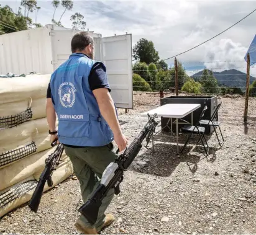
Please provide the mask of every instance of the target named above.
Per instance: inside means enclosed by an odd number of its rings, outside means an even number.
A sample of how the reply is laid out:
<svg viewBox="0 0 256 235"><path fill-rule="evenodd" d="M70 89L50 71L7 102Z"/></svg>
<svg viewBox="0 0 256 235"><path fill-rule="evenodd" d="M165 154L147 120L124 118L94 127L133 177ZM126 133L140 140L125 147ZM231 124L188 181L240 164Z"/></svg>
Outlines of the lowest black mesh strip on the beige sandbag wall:
<svg viewBox="0 0 256 235"><path fill-rule="evenodd" d="M9 190L0 192L0 207L4 208L4 206L34 189L36 186L37 180L27 180L17 185L16 187L12 187Z"/></svg>

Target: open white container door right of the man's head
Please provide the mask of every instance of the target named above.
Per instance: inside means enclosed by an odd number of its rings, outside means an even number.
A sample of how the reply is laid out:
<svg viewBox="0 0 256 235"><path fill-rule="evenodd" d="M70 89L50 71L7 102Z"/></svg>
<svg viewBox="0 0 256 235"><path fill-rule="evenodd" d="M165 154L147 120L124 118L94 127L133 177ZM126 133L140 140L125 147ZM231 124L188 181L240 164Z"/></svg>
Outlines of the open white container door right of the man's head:
<svg viewBox="0 0 256 235"><path fill-rule="evenodd" d="M95 59L101 58L106 66L111 96L116 107L133 109L132 35L97 38L96 47L101 48L101 55L98 53Z"/></svg>

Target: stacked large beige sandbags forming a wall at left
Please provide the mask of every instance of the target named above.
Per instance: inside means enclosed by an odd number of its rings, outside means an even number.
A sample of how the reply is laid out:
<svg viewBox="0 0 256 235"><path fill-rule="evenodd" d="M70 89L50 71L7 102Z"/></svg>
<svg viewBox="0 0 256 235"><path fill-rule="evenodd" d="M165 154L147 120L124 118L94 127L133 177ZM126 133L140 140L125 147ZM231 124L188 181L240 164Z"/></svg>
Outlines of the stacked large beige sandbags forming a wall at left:
<svg viewBox="0 0 256 235"><path fill-rule="evenodd" d="M45 113L49 81L50 74L0 78L0 217L29 202L45 159L57 148L50 145ZM52 187L72 173L63 151ZM45 184L43 192L49 188Z"/></svg>

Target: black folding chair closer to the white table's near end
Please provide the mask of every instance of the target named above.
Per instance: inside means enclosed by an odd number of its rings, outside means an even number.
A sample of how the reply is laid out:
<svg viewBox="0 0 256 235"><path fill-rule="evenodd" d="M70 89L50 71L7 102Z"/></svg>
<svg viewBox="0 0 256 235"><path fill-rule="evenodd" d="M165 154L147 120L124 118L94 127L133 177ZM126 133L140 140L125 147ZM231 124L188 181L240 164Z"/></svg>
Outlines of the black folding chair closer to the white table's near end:
<svg viewBox="0 0 256 235"><path fill-rule="evenodd" d="M201 112L201 115L200 115L200 117L199 117L199 120L198 120L198 122L196 123L196 125L194 125L194 126L193 126L193 125L186 125L186 126L183 126L183 127L181 128L181 131L182 131L183 133L190 133L190 135L189 135L188 138L186 139L186 142L185 142L185 144L183 145L183 148L181 149L180 153L183 152L183 149L185 148L186 144L188 144L188 141L190 140L191 136L192 136L193 134L198 134L198 135L199 135L199 140L198 140L198 142L196 143L196 145L198 145L198 143L199 143L200 141L202 141L202 144L203 144L203 146L204 146L204 151L206 152L206 155L208 156L208 154L209 154L209 146L208 146L207 140L206 140L205 135L204 135L205 128L204 128L203 126L199 126L199 122L200 122L201 118L203 117L204 112L206 112L206 110L207 110L207 106L205 105L203 111ZM207 148L206 148L206 146L204 145L203 139L204 139L204 141L205 141L205 143L206 143Z"/></svg>

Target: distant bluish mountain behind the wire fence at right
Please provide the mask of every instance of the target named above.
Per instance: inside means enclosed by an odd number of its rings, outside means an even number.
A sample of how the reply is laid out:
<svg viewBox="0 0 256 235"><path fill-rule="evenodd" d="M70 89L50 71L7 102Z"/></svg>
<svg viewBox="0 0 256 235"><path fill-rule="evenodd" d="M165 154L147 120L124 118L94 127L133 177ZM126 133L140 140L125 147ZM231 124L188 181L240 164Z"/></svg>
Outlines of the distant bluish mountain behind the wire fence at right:
<svg viewBox="0 0 256 235"><path fill-rule="evenodd" d="M209 72L209 69L208 69ZM203 74L203 70L191 76L198 80ZM246 89L246 74L238 71L237 69L224 70L222 72L214 72L214 77L217 79L219 86L227 87L240 87L242 91ZM254 82L256 78L250 76L250 84Z"/></svg>

